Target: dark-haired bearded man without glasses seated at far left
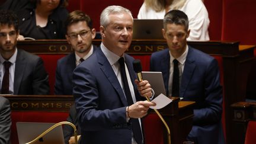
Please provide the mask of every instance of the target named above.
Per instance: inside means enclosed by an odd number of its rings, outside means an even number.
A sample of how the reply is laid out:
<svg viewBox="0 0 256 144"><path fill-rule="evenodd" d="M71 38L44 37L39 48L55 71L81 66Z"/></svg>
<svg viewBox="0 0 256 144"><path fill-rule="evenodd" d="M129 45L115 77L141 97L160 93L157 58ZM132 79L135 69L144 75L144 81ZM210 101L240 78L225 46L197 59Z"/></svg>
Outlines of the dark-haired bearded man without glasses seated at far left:
<svg viewBox="0 0 256 144"><path fill-rule="evenodd" d="M1 94L49 94L48 74L43 60L16 47L19 36L17 15L1 10L0 17Z"/></svg>

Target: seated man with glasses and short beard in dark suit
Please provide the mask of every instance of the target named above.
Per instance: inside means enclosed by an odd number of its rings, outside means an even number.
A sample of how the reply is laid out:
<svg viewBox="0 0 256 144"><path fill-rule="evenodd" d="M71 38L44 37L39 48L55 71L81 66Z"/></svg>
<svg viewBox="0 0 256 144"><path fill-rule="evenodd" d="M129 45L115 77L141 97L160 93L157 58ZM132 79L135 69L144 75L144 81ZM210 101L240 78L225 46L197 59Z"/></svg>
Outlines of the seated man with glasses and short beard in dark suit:
<svg viewBox="0 0 256 144"><path fill-rule="evenodd" d="M92 28L92 20L88 15L82 11L73 11L69 14L66 20L66 39L71 44L73 52L57 61L56 95L72 95L73 70L97 49L97 47L92 45L92 39L94 39L95 34L95 28ZM78 127L74 106L71 107L67 120L75 124L79 134L80 127ZM69 143L69 139L73 136L73 128L71 126L64 126L63 133L65 143ZM72 139L70 140L72 141Z"/></svg>

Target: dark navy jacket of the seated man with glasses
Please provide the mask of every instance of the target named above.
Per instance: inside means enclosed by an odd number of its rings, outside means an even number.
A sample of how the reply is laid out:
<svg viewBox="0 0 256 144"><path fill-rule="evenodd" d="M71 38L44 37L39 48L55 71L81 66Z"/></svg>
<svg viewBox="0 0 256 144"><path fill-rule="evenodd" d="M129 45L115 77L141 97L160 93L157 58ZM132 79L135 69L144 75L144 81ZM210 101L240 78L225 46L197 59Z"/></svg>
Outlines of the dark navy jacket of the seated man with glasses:
<svg viewBox="0 0 256 144"><path fill-rule="evenodd" d="M98 47L94 46L94 52ZM76 68L75 53L57 60L57 68L55 74L55 94L56 95L72 95L72 75L73 70Z"/></svg>

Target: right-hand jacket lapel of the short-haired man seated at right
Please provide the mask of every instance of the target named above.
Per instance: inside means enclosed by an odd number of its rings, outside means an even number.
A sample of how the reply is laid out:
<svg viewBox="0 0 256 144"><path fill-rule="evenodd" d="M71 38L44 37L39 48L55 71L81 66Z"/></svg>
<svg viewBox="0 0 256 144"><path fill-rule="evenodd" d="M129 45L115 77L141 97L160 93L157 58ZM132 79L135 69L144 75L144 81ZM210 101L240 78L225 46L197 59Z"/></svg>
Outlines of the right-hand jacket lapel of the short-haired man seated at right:
<svg viewBox="0 0 256 144"><path fill-rule="evenodd" d="M180 88L181 97L184 97L184 93L188 87L188 84L190 83L190 80L193 76L195 68L196 68L196 64L194 64L193 49L188 47L188 54L185 60L183 76L181 78L181 88Z"/></svg>

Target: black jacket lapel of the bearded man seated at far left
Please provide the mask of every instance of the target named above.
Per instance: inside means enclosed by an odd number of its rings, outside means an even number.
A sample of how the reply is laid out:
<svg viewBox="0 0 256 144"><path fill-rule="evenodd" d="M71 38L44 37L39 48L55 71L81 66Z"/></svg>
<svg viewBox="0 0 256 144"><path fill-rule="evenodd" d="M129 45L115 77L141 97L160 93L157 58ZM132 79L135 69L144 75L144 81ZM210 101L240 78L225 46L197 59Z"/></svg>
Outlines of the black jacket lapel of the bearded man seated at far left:
<svg viewBox="0 0 256 144"><path fill-rule="evenodd" d="M17 49L18 50L18 49ZM18 89L20 88L21 79L23 79L23 74L25 70L25 57L22 50L18 50L17 58L15 62L15 71L14 71L14 94L18 94Z"/></svg>

